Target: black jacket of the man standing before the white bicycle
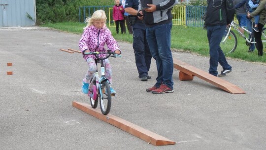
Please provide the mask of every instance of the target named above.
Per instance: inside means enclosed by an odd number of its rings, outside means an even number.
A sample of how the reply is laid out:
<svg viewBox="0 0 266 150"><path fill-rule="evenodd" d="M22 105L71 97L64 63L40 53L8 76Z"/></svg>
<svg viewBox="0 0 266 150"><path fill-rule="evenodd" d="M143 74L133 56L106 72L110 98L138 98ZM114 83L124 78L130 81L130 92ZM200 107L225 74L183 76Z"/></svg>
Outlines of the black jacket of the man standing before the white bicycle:
<svg viewBox="0 0 266 150"><path fill-rule="evenodd" d="M205 24L227 25L234 17L233 0L207 0L207 14Z"/></svg>

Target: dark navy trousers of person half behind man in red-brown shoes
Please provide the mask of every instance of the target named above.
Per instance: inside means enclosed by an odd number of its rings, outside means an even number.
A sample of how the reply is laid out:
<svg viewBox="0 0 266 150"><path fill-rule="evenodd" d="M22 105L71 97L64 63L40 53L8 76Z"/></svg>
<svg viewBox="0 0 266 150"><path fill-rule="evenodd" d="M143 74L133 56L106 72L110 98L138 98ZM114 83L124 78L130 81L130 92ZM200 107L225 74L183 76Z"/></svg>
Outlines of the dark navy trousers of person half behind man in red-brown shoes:
<svg viewBox="0 0 266 150"><path fill-rule="evenodd" d="M138 77L148 75L151 66L151 51L146 39L146 26L143 23L135 23L133 26L133 49Z"/></svg>

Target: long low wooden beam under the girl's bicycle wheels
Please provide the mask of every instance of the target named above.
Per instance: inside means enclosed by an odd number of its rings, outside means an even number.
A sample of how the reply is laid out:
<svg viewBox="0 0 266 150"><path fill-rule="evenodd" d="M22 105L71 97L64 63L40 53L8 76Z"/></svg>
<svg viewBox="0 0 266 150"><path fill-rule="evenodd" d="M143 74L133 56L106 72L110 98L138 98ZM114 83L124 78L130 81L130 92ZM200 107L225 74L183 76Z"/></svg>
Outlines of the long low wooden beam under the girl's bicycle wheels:
<svg viewBox="0 0 266 150"><path fill-rule="evenodd" d="M99 109L93 109L91 105L79 102L72 102L72 106L83 111L87 112L102 121L105 121L113 126L116 126L154 146L164 146L164 145L174 145L175 142L166 139L156 133L148 131L142 127L139 127L131 122L123 120L112 114L103 115Z"/></svg>

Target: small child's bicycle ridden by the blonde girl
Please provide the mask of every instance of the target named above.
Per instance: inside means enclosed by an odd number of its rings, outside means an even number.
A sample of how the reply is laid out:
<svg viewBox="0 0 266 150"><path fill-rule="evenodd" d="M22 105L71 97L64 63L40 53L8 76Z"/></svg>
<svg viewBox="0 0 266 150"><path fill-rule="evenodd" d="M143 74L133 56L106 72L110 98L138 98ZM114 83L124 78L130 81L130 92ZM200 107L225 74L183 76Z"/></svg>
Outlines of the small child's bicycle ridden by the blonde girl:
<svg viewBox="0 0 266 150"><path fill-rule="evenodd" d="M100 66L101 77L99 77L98 67L97 67L97 71L89 83L90 85L89 85L88 96L90 97L91 106L94 109L97 108L98 100L100 98L101 113L104 115L107 115L111 109L111 100L112 100L111 96L114 96L114 95L111 95L110 81L105 77L105 68L103 65L103 60L109 57L116 57L120 55L114 54L114 52L111 52L111 50L107 50L107 52L89 52L89 53L84 53L84 54L95 55L97 58L97 60L95 61L96 65L99 62L101 63L101 66ZM99 54L107 54L107 55L103 58L100 58Z"/></svg>

